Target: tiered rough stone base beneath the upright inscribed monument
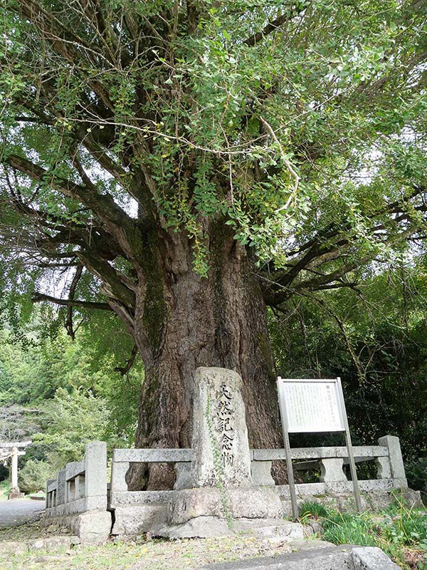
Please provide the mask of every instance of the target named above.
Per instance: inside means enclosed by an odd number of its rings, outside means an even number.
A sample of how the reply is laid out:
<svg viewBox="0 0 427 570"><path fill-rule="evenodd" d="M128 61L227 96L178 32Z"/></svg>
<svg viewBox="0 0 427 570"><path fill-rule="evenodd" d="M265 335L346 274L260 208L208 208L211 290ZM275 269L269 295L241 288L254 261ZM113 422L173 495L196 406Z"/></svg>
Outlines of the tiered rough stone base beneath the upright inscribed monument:
<svg viewBox="0 0 427 570"><path fill-rule="evenodd" d="M303 535L300 524L283 520L278 494L260 487L183 489L174 494L166 524L151 532L169 539L240 533L290 539Z"/></svg>

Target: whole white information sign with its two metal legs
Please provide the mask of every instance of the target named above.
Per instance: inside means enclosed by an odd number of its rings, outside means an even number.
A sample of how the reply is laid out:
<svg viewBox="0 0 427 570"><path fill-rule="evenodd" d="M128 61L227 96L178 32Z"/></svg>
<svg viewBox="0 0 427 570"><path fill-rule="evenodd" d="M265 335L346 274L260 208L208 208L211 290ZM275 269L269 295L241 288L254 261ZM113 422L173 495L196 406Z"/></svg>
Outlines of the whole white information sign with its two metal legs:
<svg viewBox="0 0 427 570"><path fill-rule="evenodd" d="M357 481L356 465L354 463L352 440L345 410L341 379L305 380L299 378L280 378L279 376L277 384L293 516L295 518L298 516L298 507L289 434L303 432L345 433L350 472L352 473L354 499L357 511L362 512L359 483Z"/></svg>

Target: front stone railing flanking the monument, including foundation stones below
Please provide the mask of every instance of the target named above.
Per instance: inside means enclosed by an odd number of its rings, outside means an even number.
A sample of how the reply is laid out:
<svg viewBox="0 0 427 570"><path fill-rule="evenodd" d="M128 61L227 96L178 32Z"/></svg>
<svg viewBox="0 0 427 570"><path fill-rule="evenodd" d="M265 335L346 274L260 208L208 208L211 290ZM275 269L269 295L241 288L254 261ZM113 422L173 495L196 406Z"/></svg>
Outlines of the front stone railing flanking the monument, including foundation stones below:
<svg viewBox="0 0 427 570"><path fill-rule="evenodd" d="M351 497L352 482L347 480L343 466L348 461L346 447L305 447L291 450L296 467L304 470L320 470L320 482L297 484L300 501L327 494ZM379 445L354 447L357 462L374 461L377 479L359 481L362 491L371 492L371 497L384 497L391 489L406 488L404 463L401 457L399 438L380 437ZM112 534L125 537L147 532L169 519L171 505L181 489L194 487L191 474L191 449L117 449L112 457L110 485L110 508L115 511ZM283 511L290 512L288 485L276 485L271 476L274 460L285 460L285 450L250 450L252 484L268 486L280 495ZM176 472L173 490L128 491L126 473L132 463L172 463ZM373 492L373 493L372 493ZM369 507L367 499L364 507ZM371 499L369 499L371 500ZM375 498L372 500L376 500Z"/></svg>

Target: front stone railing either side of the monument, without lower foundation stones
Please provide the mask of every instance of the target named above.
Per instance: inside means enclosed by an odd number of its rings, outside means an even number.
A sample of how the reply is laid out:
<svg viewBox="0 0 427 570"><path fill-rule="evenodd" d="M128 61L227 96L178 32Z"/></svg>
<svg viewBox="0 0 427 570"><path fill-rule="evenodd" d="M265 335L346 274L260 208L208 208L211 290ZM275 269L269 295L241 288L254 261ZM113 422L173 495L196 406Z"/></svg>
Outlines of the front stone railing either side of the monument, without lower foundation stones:
<svg viewBox="0 0 427 570"><path fill-rule="evenodd" d="M376 462L376 479L360 481L362 490L387 491L407 487L404 462L401 456L399 437L386 435L379 438L379 445L353 447L357 462ZM280 494L286 495L287 485L275 485L271 476L272 462L285 460L285 450L251 450L251 476L254 486L274 486ZM320 469L319 483L297 484L297 491L306 496L325 492L350 492L351 482L347 480L343 466L348 462L346 447L297 447L291 450L298 470ZM112 508L123 504L137 504L168 499L172 492L128 491L125 475L131 463L174 463L176 482L174 490L194 487L191 475L191 449L127 449L114 450L112 457L111 502ZM348 488L347 488L348 487Z"/></svg>

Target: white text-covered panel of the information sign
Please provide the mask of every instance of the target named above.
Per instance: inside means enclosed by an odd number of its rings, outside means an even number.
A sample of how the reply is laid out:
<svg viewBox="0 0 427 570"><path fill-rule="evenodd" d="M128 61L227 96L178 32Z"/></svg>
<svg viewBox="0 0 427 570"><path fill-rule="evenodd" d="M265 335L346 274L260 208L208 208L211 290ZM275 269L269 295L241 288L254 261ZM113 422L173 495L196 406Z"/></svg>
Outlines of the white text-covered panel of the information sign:
<svg viewBox="0 0 427 570"><path fill-rule="evenodd" d="M337 380L279 378L278 390L288 432L345 431Z"/></svg>

